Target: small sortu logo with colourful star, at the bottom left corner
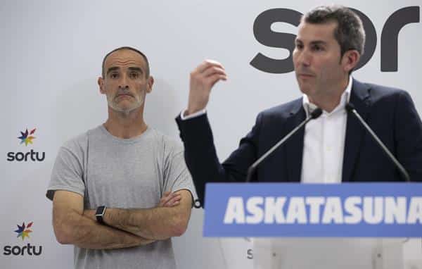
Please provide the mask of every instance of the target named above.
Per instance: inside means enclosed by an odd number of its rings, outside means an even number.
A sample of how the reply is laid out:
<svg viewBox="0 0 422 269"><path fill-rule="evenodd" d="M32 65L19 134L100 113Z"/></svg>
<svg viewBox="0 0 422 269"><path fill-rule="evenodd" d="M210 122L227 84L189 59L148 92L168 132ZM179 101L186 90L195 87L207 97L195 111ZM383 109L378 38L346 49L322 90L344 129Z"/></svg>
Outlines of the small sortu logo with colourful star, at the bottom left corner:
<svg viewBox="0 0 422 269"><path fill-rule="evenodd" d="M22 225L17 225L18 230L15 230L16 233L18 233L18 238L22 238L22 241L25 240L25 238L30 238L30 233L32 230L30 230L30 227L32 227L32 222L25 225L25 223L22 223ZM32 246L30 243L27 243L26 246L4 246L4 252L3 254L5 256L24 256L25 254L29 256L39 256L42 252L42 246Z"/></svg>

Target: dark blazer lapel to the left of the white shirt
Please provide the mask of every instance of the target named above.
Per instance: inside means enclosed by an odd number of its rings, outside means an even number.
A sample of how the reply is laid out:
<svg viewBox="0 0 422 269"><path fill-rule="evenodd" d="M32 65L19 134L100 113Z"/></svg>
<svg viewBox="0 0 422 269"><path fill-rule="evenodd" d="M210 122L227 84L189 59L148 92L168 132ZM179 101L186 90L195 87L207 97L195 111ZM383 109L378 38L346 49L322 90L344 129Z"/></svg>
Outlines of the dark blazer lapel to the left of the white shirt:
<svg viewBox="0 0 422 269"><path fill-rule="evenodd" d="M298 106L290 112L291 117L286 122L286 134L300 125L306 118L305 109L302 106L302 99ZM285 134L285 135L286 135ZM305 136L305 127L302 127L296 134L286 141L286 163L288 169L288 181L300 182L302 172L303 139Z"/></svg>

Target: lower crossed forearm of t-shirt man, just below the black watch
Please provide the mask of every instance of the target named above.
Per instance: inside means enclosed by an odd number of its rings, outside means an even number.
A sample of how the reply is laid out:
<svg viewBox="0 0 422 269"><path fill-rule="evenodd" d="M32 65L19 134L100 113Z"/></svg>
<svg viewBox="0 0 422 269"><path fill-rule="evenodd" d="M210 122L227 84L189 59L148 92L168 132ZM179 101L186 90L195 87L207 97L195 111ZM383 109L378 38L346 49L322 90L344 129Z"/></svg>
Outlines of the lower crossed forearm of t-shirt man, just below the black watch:
<svg viewBox="0 0 422 269"><path fill-rule="evenodd" d="M85 249L122 249L154 242L129 232L100 225L87 216L77 213L71 213L66 223L55 225L55 230L60 243L74 244Z"/></svg>

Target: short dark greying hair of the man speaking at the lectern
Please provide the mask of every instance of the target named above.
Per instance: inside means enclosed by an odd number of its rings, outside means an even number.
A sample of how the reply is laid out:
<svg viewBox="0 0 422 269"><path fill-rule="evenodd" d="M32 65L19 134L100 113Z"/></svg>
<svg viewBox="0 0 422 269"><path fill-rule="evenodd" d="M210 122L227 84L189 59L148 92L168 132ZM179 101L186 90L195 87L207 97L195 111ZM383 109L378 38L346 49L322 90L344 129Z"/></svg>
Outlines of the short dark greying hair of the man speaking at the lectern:
<svg viewBox="0 0 422 269"><path fill-rule="evenodd" d="M365 30L359 16L345 6L318 6L306 13L302 20L305 23L337 22L334 38L340 44L341 54L356 49L360 55L364 54Z"/></svg>

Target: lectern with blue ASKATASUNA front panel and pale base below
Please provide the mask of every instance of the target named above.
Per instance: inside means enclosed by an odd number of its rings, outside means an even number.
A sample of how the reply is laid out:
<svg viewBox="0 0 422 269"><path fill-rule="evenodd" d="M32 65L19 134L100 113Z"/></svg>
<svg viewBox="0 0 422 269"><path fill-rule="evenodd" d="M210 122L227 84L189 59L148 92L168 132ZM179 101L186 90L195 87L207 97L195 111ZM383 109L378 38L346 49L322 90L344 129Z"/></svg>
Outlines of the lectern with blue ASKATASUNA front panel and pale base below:
<svg viewBox="0 0 422 269"><path fill-rule="evenodd" d="M205 237L250 237L254 268L422 269L420 183L213 183Z"/></svg>

